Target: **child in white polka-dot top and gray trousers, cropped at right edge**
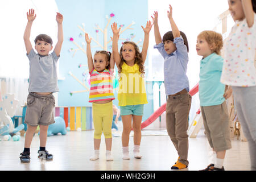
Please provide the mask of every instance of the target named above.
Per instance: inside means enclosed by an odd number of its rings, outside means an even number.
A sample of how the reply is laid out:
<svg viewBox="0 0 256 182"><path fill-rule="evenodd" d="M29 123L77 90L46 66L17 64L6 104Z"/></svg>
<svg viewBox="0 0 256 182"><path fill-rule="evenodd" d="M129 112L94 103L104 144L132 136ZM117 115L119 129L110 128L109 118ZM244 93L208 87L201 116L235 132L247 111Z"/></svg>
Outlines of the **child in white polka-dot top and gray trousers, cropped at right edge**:
<svg viewBox="0 0 256 182"><path fill-rule="evenodd" d="M234 105L256 170L256 1L228 0L235 24L227 38L221 82L232 86Z"/></svg>

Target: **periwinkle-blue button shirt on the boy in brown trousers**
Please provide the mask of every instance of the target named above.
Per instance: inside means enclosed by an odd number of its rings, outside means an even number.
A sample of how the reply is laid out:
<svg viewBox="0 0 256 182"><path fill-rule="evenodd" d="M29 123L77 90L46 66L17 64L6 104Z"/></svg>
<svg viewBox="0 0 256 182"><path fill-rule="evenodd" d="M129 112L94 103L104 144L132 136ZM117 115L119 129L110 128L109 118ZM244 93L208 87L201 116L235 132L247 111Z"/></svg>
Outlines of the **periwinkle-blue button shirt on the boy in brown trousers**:
<svg viewBox="0 0 256 182"><path fill-rule="evenodd" d="M177 50L170 55L164 50L164 44L155 45L164 58L164 86L166 95L172 95L186 89L189 92L189 81L186 75L188 51L182 36L174 39Z"/></svg>

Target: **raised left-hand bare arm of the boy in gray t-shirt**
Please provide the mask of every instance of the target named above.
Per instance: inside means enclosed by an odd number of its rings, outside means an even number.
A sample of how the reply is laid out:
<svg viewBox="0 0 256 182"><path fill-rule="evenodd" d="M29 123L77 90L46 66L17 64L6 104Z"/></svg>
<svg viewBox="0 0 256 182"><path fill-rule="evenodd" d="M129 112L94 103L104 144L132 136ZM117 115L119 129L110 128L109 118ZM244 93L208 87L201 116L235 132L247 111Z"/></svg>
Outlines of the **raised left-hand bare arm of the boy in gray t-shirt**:
<svg viewBox="0 0 256 182"><path fill-rule="evenodd" d="M32 50L32 44L30 42L30 32L31 32L32 23L35 20L35 18L36 18L35 10L33 9L29 10L27 13L27 26L25 28L24 36L23 36L27 54L29 54L30 51Z"/></svg>

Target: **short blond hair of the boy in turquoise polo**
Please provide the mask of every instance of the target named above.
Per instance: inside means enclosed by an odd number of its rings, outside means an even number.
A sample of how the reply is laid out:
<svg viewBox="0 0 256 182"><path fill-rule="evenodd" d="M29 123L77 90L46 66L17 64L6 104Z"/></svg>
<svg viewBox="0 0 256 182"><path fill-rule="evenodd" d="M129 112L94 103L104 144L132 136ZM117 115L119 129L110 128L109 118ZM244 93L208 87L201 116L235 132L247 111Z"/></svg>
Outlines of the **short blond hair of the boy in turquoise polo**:
<svg viewBox="0 0 256 182"><path fill-rule="evenodd" d="M223 39L221 34L212 30L205 30L201 32L197 38L204 38L210 46L213 46L212 51L217 53L217 55L221 55L221 49L223 47Z"/></svg>

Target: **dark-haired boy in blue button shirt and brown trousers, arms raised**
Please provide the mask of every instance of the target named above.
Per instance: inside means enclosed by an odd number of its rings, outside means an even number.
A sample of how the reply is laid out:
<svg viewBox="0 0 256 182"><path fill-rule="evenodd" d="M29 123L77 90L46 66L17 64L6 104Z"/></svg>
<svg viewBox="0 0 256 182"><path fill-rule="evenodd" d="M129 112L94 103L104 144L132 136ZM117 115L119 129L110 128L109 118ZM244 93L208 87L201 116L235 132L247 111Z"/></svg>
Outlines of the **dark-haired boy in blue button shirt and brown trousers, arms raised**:
<svg viewBox="0 0 256 182"><path fill-rule="evenodd" d="M177 28L172 18L172 6L169 6L168 19L172 31L161 38L158 27L158 12L153 19L155 42L164 58L164 86L166 88L166 128L179 158L171 169L188 167L188 115L191 107L189 82L186 75L188 64L188 41L185 34Z"/></svg>

